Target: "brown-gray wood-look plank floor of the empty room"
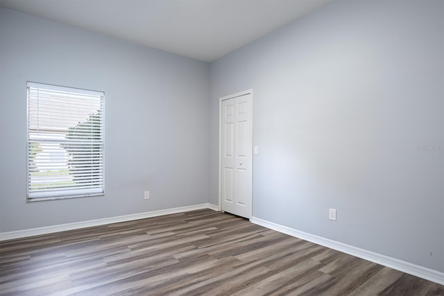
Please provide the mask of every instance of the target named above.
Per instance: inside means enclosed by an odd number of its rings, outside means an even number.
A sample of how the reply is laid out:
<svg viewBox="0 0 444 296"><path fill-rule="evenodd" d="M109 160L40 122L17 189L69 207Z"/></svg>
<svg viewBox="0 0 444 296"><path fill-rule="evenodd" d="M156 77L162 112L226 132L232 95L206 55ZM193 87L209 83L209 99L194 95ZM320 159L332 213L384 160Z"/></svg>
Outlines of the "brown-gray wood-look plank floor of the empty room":
<svg viewBox="0 0 444 296"><path fill-rule="evenodd" d="M444 295L212 210L0 243L0 295Z"/></svg>

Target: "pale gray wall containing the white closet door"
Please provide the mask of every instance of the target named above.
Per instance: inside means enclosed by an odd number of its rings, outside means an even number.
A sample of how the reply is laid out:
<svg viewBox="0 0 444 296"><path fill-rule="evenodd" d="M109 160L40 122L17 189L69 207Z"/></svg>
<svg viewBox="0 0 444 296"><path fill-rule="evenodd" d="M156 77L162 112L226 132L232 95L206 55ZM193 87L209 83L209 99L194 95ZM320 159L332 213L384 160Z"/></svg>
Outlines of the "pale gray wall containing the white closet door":
<svg viewBox="0 0 444 296"><path fill-rule="evenodd" d="M334 1L211 65L253 89L253 216L444 272L444 1ZM328 220L328 208L337 221Z"/></svg>

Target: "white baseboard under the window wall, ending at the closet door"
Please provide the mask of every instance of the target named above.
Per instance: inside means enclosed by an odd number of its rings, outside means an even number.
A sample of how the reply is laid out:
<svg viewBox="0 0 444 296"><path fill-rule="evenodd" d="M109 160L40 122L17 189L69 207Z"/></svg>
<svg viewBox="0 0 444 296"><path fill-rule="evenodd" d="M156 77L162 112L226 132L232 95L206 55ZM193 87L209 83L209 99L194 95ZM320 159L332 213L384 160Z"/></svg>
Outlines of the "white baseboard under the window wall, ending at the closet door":
<svg viewBox="0 0 444 296"><path fill-rule="evenodd" d="M1 232L0 233L0 241L6 241L9 239L14 239L14 238L24 238L27 236L37 236L40 234L51 234L54 232L65 232L67 230L92 227L92 226L99 226L99 225L105 225L105 224L111 224L111 223L126 222L126 221L130 221L130 220L151 218L151 217L157 217L157 216L162 216L162 215L176 214L176 213L182 213L184 211L194 211L196 209L212 209L214 211L219 211L219 207L215 206L214 204L208 204L208 203L195 204L195 205L187 206L187 207L176 207L173 209L161 209L158 211L146 211L144 213L130 214L130 215L125 215L125 216L117 216L117 217L110 217L110 218L102 218L102 219L96 219L96 220L87 220L87 221L82 221L82 222L67 223L67 224L53 225L53 226L47 226L47 227L38 227L38 228L32 228L32 229L17 230L15 232Z"/></svg>

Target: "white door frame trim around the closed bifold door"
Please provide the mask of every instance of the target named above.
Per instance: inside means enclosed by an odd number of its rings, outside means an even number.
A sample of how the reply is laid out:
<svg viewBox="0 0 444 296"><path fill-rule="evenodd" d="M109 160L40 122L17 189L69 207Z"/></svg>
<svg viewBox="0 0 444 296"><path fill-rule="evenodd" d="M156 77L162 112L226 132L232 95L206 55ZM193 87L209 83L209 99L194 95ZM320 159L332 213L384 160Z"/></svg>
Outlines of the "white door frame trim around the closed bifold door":
<svg viewBox="0 0 444 296"><path fill-rule="evenodd" d="M222 102L225 100L228 100L230 98L236 98L238 96L244 96L246 94L250 94L251 101L250 101L250 110L251 110L251 116L250 116L250 151L252 153L251 156L251 204L250 204L250 213L249 218L253 217L253 89L246 89L242 92L237 92L235 94L230 94L228 96L222 96L219 98L219 211L222 211Z"/></svg>

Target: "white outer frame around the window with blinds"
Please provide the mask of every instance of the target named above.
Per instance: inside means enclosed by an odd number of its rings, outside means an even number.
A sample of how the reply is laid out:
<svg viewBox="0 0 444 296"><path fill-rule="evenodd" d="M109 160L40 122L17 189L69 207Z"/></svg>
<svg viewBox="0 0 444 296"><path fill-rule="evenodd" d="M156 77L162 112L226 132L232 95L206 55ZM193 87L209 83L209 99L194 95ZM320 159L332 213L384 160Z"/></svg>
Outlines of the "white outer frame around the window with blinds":
<svg viewBox="0 0 444 296"><path fill-rule="evenodd" d="M30 177L30 87L40 87L44 89L48 89L55 92L69 92L74 94L83 94L83 95L92 95L92 96L100 96L100 132L101 132L101 174L102 174L102 180L101 180L101 189L99 190L92 190L92 189L74 189L72 190L71 194L67 194L69 192L69 189L66 187L62 187L60 190L54 190L53 192L56 194L44 194L43 192L30 192L31 191L31 177ZM80 123L80 121L79 121ZM86 198L86 197L92 197L92 196L103 196L105 195L105 92L103 91L96 91L92 89L82 89L78 87L67 87L62 85L52 85L48 83L42 83L42 82L33 82L33 81L26 81L26 202L39 202L44 200L64 200L64 199L71 199L71 198ZM48 141L48 138L44 139ZM63 141L60 141L60 143L63 143ZM90 163L94 164L94 163ZM31 194L30 194L31 193ZM59 193L59 194L57 194ZM63 194L60 194L63 193ZM33 195L33 196L31 196Z"/></svg>

